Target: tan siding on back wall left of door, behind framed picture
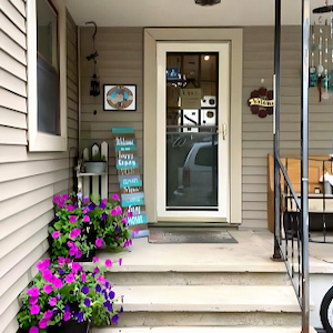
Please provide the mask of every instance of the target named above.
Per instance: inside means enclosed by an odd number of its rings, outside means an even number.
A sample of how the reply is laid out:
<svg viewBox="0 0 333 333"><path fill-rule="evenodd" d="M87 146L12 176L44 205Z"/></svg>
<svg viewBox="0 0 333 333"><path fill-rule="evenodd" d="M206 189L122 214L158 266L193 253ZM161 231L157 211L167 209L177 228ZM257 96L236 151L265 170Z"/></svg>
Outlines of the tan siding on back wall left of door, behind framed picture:
<svg viewBox="0 0 333 333"><path fill-rule="evenodd" d="M95 49L99 52L98 74L101 94L90 95L93 63L87 61L92 53L93 28L81 28L81 143L82 148L107 141L109 143L109 192L119 191L111 129L132 127L142 158L143 105L142 105L142 28L99 28ZM103 111L103 84L137 84L137 111ZM93 114L93 111L97 114Z"/></svg>

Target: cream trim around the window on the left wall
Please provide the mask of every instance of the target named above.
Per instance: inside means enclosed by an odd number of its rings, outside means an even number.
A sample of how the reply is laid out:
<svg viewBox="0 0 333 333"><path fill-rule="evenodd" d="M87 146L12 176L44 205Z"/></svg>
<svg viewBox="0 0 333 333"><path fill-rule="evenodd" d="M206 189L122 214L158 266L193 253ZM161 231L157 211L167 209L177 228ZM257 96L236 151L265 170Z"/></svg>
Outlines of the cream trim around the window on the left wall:
<svg viewBox="0 0 333 333"><path fill-rule="evenodd" d="M27 1L28 39L28 149L29 151L67 151L67 13L62 0L52 0L58 11L59 82L60 82L60 135L38 131L37 91L37 14L36 1Z"/></svg>

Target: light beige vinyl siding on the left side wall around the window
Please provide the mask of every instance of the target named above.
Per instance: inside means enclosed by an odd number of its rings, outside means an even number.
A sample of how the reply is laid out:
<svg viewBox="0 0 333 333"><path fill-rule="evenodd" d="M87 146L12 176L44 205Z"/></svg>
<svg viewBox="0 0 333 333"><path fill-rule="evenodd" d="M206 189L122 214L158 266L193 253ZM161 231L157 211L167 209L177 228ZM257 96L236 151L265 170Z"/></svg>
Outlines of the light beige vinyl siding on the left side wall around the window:
<svg viewBox="0 0 333 333"><path fill-rule="evenodd" d="M52 196L72 188L78 154L77 27L68 14L68 152L28 152L26 2L0 3L0 332L18 329L17 296L48 250Z"/></svg>

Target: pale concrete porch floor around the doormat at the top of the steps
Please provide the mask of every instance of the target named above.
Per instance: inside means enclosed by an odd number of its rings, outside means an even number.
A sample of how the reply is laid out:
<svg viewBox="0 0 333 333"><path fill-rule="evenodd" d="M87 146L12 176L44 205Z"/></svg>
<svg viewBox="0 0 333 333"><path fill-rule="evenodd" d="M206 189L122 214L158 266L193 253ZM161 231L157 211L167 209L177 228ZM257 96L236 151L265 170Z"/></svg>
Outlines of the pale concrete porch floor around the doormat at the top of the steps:
<svg viewBox="0 0 333 333"><path fill-rule="evenodd" d="M229 232L236 244L150 244L148 239L135 239L121 253L99 254L123 265L113 265L112 272L193 271L200 272L285 272L284 263L273 262L273 234L266 230L234 230ZM310 243L310 272L333 273L333 244Z"/></svg>

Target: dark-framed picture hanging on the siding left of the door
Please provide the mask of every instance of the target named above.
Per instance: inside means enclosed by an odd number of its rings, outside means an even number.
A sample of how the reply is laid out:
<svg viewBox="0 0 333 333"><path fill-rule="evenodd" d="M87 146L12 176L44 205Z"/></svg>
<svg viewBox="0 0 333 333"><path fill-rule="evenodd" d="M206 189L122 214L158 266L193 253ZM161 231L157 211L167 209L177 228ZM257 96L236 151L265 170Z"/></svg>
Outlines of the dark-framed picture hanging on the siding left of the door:
<svg viewBox="0 0 333 333"><path fill-rule="evenodd" d="M137 84L104 84L104 111L137 111Z"/></svg>

